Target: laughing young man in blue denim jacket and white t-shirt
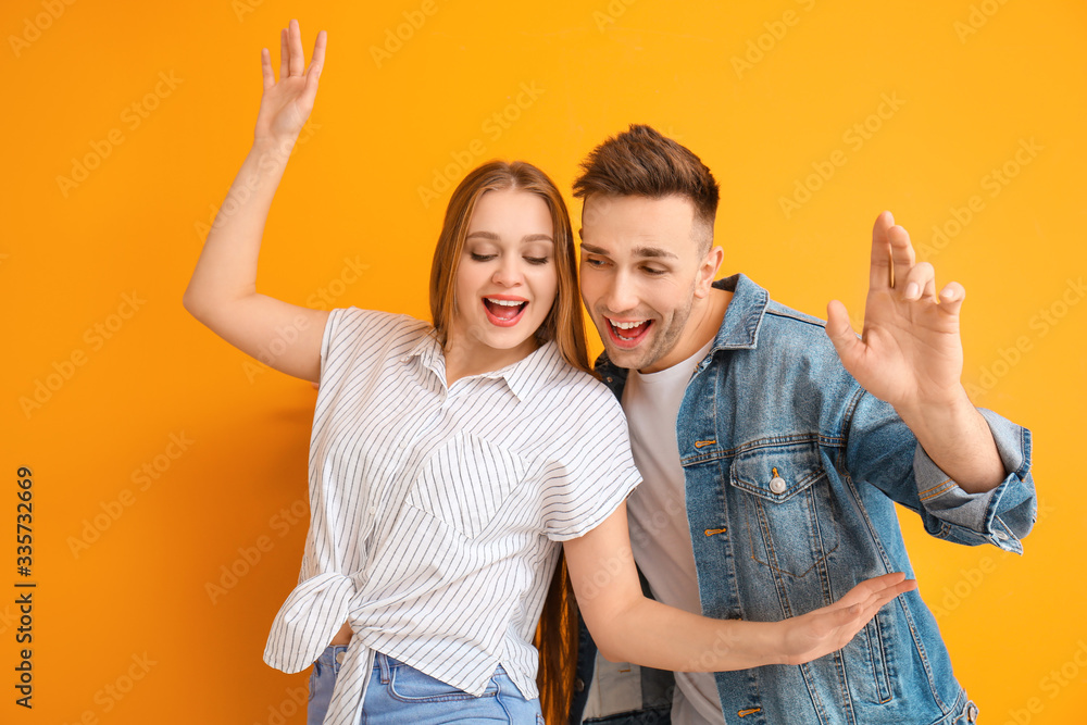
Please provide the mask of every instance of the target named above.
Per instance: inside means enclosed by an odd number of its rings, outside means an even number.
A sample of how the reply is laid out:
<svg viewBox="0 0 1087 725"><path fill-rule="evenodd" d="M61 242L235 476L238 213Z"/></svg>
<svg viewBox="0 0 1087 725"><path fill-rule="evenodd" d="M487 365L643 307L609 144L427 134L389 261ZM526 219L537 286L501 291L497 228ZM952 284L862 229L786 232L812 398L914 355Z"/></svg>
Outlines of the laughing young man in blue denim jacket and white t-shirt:
<svg viewBox="0 0 1087 725"><path fill-rule="evenodd" d="M863 578L909 573L895 502L939 538L1022 552L1036 512L1029 432L970 403L964 290L937 293L889 213L873 229L858 339L840 302L824 324L744 275L713 282L717 185L686 148L632 126L583 167L582 296L645 478L628 499L630 534L658 599L780 620ZM579 687L592 651L583 632ZM651 673L619 667L635 680L622 683L597 663L609 682L575 701L573 723L586 697L586 722L609 723L671 713L682 725L951 725L977 714L917 592L809 664L676 673L671 704Z"/></svg>

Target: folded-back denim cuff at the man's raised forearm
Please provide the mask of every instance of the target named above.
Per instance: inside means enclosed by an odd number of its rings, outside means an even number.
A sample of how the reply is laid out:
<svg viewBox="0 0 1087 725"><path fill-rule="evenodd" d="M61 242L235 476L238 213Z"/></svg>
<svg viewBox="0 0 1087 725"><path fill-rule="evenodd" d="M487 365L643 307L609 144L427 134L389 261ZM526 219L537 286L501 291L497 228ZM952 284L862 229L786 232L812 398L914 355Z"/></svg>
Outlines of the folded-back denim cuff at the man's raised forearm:
<svg viewBox="0 0 1087 725"><path fill-rule="evenodd" d="M978 412L992 432L1004 471L1010 473L991 490L967 493L919 445L913 470L925 528L959 543L992 543L1023 553L1022 538L1030 533L1038 510L1030 475L1030 432L992 411Z"/></svg>

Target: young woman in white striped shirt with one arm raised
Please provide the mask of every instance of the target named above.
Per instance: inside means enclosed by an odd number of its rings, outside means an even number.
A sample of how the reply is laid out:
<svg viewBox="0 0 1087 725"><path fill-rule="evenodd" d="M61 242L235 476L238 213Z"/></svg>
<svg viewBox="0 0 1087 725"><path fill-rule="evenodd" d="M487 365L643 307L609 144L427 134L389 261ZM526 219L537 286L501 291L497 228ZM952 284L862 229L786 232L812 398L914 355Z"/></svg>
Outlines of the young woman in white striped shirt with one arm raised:
<svg viewBox="0 0 1087 725"><path fill-rule="evenodd" d="M253 148L185 293L227 341L253 355L275 349L262 359L320 382L302 572L265 650L298 672L346 647L327 716L314 717L542 722L532 637L560 541L605 657L670 670L810 661L914 586L888 574L777 623L642 596L625 421L587 372L570 220L535 166L491 162L453 192L432 267L433 326L257 293L263 226L324 54L321 33L305 68L295 21L280 34L278 82L262 52Z"/></svg>

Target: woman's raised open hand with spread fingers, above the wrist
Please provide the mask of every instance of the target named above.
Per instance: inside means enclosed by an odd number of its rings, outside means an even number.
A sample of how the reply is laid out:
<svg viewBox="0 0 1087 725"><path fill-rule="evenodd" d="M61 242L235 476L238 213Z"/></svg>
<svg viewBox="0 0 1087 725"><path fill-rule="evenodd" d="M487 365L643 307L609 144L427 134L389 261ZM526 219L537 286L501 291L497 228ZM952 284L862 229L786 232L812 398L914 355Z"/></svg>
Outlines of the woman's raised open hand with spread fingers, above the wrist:
<svg viewBox="0 0 1087 725"><path fill-rule="evenodd" d="M255 141L293 145L302 126L313 110L313 99L317 95L317 80L325 63L324 30L317 34L313 43L313 58L305 67L302 51L302 32L298 21L279 32L279 80L272 71L272 55L267 48L261 49L261 72L264 75L264 95L261 110L257 114Z"/></svg>

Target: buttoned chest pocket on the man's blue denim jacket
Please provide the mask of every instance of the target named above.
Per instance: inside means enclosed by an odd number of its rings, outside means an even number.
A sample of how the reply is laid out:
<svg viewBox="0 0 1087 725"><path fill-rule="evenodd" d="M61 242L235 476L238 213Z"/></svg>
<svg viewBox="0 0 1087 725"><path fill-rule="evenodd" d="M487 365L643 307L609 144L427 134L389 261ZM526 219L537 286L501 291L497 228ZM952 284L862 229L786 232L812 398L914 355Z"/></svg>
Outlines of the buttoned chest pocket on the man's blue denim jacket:
<svg viewBox="0 0 1087 725"><path fill-rule="evenodd" d="M802 577L838 548L835 505L814 442L764 446L733 460L750 555L776 573Z"/></svg>

